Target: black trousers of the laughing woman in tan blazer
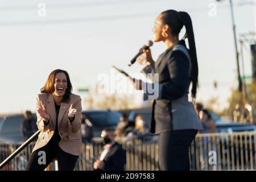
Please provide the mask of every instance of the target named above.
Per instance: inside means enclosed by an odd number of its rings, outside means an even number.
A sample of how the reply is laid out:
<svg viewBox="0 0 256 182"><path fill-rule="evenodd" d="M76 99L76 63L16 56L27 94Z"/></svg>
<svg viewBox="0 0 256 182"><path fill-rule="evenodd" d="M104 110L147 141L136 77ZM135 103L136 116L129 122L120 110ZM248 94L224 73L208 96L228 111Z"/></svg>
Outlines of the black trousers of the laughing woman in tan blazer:
<svg viewBox="0 0 256 182"><path fill-rule="evenodd" d="M43 155L45 152L45 163L43 163ZM50 140L46 146L34 151L28 160L27 171L43 171L53 159L57 159L59 171L73 171L76 166L76 161L79 158L77 155L68 154L59 147L59 142Z"/></svg>

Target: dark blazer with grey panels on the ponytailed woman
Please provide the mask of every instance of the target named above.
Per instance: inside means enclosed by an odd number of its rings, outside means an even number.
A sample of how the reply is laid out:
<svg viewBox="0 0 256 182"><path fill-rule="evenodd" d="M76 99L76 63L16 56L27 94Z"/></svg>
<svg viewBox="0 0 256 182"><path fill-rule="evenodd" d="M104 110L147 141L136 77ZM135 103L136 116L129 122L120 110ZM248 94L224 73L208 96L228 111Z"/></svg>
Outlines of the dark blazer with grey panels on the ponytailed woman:
<svg viewBox="0 0 256 182"><path fill-rule="evenodd" d="M166 49L154 64L142 70L147 76L150 76L148 73L158 73L151 85L158 90L158 97L154 98L152 106L151 133L203 129L193 104L188 101L190 72L191 60L184 40ZM144 99L150 96L152 94L144 88Z"/></svg>

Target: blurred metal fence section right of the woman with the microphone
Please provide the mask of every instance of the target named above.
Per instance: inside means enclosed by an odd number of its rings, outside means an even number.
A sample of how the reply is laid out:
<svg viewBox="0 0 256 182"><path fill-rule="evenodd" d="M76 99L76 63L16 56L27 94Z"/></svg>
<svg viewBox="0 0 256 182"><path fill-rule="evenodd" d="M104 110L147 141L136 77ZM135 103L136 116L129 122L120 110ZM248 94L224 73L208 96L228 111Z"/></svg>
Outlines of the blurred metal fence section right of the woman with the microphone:
<svg viewBox="0 0 256 182"><path fill-rule="evenodd" d="M194 170L255 170L255 138L255 131L198 134L190 148L191 168Z"/></svg>

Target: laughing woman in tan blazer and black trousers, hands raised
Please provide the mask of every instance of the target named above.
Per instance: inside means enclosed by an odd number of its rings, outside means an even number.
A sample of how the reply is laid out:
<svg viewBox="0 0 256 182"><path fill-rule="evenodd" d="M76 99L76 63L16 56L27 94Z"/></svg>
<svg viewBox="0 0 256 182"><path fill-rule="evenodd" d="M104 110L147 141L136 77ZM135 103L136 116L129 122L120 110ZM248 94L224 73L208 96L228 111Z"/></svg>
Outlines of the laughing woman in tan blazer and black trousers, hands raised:
<svg viewBox="0 0 256 182"><path fill-rule="evenodd" d="M38 136L27 170L44 170L54 158L59 170L73 170L81 154L81 98L71 93L66 71L56 69L36 97Z"/></svg>

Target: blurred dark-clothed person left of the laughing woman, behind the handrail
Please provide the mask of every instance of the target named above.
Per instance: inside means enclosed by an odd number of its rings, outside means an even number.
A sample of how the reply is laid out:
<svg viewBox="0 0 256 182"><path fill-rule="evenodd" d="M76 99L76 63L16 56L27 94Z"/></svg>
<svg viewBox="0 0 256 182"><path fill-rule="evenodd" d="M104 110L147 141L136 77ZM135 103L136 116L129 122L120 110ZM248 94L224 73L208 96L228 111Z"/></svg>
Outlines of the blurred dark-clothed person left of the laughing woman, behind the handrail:
<svg viewBox="0 0 256 182"><path fill-rule="evenodd" d="M36 118L33 117L30 110L26 110L23 115L24 119L21 124L21 129L24 140L27 140L38 131L38 126L36 125ZM34 140L36 140L36 138Z"/></svg>

